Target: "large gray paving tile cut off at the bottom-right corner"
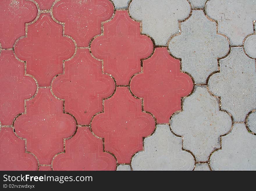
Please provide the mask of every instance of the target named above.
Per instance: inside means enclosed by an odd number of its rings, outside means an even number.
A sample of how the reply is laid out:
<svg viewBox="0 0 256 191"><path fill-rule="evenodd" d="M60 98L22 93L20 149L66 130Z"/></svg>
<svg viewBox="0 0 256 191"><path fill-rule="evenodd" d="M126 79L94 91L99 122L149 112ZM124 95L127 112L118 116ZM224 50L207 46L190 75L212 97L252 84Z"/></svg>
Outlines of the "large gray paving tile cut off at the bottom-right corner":
<svg viewBox="0 0 256 191"><path fill-rule="evenodd" d="M256 170L256 136L244 124L235 124L222 138L222 149L210 158L213 170Z"/></svg>

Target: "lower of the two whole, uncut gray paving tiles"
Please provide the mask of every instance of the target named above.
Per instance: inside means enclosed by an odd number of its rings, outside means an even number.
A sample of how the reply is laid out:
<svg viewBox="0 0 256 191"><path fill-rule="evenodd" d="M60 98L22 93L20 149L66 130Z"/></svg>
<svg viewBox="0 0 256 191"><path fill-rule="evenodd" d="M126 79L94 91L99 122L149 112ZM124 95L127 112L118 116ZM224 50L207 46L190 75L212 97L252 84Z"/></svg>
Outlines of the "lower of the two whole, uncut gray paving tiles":
<svg viewBox="0 0 256 191"><path fill-rule="evenodd" d="M190 150L197 161L207 161L210 153L220 148L219 136L230 130L232 121L219 110L217 99L205 87L196 86L184 100L183 111L172 117L170 125L174 133L184 136L184 149Z"/></svg>

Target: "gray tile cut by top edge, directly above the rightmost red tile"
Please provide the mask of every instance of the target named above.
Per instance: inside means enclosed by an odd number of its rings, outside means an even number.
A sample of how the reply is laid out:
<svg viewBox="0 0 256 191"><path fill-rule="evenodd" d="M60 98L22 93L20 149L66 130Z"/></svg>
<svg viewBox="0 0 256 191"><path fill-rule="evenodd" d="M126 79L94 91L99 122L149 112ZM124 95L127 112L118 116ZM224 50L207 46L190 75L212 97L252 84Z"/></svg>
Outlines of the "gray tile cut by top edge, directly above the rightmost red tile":
<svg viewBox="0 0 256 191"><path fill-rule="evenodd" d="M129 12L142 21L143 33L150 35L157 45L166 45L179 32L178 20L189 16L190 5L186 0L133 0Z"/></svg>

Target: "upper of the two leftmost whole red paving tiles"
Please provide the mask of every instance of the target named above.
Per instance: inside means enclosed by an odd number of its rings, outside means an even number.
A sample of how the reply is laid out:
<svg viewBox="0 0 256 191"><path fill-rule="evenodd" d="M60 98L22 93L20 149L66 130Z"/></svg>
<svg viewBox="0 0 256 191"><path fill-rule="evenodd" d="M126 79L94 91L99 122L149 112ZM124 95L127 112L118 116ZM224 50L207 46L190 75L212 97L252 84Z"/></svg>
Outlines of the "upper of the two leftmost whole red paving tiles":
<svg viewBox="0 0 256 191"><path fill-rule="evenodd" d="M27 62L27 74L33 75L39 86L49 86L52 78L63 73L63 60L73 56L74 42L62 35L62 25L41 14L34 24L28 26L28 35L20 39L15 53Z"/></svg>

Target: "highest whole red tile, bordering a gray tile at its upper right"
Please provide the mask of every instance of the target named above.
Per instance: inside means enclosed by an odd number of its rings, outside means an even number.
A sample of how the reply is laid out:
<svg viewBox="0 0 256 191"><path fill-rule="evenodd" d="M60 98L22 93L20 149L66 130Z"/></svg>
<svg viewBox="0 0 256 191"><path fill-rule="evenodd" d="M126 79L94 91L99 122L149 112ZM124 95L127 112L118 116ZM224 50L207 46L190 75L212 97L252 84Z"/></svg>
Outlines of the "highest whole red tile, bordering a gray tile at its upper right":
<svg viewBox="0 0 256 191"><path fill-rule="evenodd" d="M141 71L141 59L153 51L153 42L140 33L140 23L127 11L116 11L115 17L104 23L104 35L93 40L91 51L104 60L104 72L113 75L117 85L127 85L131 76Z"/></svg>

